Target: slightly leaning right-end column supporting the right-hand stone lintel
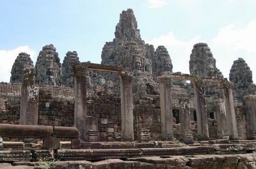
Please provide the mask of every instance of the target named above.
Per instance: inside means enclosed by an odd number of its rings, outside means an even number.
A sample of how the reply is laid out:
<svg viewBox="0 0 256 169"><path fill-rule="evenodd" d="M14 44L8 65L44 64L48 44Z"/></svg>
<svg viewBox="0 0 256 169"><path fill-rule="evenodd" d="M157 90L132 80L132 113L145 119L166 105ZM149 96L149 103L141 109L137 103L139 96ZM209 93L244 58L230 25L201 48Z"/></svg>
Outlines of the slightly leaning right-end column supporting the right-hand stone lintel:
<svg viewBox="0 0 256 169"><path fill-rule="evenodd" d="M222 84L223 98L225 101L226 119L227 119L227 131L229 138L237 139L237 124L236 124L236 114L234 107L234 98L232 91L232 83L223 82Z"/></svg>

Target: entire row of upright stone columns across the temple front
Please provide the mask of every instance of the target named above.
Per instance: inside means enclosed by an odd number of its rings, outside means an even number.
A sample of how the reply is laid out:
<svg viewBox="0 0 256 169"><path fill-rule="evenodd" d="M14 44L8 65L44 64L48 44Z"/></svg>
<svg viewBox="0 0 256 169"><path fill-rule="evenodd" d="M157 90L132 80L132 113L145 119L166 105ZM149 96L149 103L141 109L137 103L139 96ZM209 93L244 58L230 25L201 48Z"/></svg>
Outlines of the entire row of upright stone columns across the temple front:
<svg viewBox="0 0 256 169"><path fill-rule="evenodd" d="M193 80L192 84L195 90L195 105L198 124L198 135L202 139L209 138L207 115L205 110L204 81ZM75 126L79 130L80 138L93 141L88 135L94 135L97 131L97 119L86 114L86 67L76 66L75 70ZM232 94L232 85L229 82L221 84L223 88L223 100L216 103L216 118L218 122L218 135L220 138L238 138L236 115L234 110L234 101ZM173 139L173 115L172 115L172 97L170 78L159 79L160 105L161 105L161 129L163 140ZM38 124L38 87L35 85L35 70L24 70L24 78L21 90L20 103L20 124ZM133 129L133 99L132 99L132 75L127 72L120 73L120 95L121 95L121 117L122 117L122 135L124 141L134 140ZM255 119L255 96L246 96L246 121L248 138L256 138L256 125L252 122ZM180 117L182 135L189 136L190 121L187 116L188 101L180 101ZM94 132L94 133L93 133ZM185 138L182 138L185 139ZM189 138L188 138L189 139Z"/></svg>

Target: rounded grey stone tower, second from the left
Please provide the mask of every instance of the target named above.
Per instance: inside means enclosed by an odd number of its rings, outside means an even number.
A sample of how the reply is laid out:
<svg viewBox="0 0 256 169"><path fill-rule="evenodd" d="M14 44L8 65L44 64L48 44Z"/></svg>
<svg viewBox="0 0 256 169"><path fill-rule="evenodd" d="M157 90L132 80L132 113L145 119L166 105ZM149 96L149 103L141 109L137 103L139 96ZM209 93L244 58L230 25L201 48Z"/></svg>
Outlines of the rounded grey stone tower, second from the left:
<svg viewBox="0 0 256 169"><path fill-rule="evenodd" d="M38 85L61 85L61 63L56 48L45 45L35 66L35 82Z"/></svg>

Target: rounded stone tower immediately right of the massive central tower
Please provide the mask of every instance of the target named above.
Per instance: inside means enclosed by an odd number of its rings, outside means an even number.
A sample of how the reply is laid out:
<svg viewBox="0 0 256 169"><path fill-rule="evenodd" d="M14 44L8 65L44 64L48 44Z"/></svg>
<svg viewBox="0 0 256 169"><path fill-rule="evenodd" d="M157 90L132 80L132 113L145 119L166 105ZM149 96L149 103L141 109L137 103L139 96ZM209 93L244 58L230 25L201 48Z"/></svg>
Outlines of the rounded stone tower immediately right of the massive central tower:
<svg viewBox="0 0 256 169"><path fill-rule="evenodd" d="M164 46L157 47L154 57L152 58L153 77L157 78L164 71L172 72L172 68L172 60L166 48Z"/></svg>

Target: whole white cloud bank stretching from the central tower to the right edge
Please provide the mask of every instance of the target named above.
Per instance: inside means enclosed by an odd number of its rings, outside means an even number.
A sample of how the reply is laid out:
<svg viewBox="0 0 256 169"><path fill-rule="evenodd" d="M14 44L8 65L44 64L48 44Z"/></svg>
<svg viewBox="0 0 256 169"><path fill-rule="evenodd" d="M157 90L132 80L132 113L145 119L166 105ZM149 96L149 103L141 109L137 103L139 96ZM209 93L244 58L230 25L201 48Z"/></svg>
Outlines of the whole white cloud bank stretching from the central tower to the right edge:
<svg viewBox="0 0 256 169"><path fill-rule="evenodd" d="M212 54L216 59L216 66L222 71L224 77L229 77L230 68L238 57L243 57L253 71L253 82L256 83L256 20L249 22L244 27L234 25L225 26L218 33L203 40L195 36L190 40L180 40L173 32L148 40L147 43L164 45L170 54L173 71L189 73L189 57L193 45L198 42L208 43Z"/></svg>

